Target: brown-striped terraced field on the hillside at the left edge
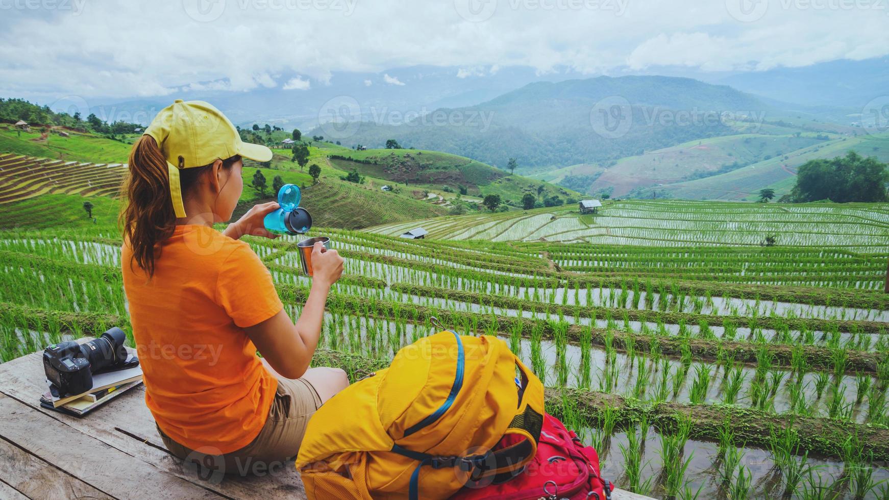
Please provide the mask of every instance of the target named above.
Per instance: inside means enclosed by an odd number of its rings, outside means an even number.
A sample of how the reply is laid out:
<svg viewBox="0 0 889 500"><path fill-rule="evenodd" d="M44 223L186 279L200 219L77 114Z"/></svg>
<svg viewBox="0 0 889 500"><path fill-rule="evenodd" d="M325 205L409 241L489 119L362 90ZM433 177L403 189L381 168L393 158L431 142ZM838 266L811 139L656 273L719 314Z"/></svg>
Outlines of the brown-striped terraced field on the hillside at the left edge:
<svg viewBox="0 0 889 500"><path fill-rule="evenodd" d="M0 203L18 202L41 194L114 195L126 166L121 163L82 163L0 154Z"/></svg>

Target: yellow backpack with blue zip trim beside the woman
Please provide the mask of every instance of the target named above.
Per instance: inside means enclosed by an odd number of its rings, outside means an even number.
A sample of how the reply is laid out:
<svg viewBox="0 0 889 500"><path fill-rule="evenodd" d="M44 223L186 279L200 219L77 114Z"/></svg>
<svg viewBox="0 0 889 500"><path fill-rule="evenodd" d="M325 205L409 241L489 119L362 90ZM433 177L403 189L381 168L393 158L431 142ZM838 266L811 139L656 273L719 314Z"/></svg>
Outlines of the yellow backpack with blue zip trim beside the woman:
<svg viewBox="0 0 889 500"><path fill-rule="evenodd" d="M308 498L447 498L521 472L543 414L540 379L505 342L445 330L325 402L296 468Z"/></svg>

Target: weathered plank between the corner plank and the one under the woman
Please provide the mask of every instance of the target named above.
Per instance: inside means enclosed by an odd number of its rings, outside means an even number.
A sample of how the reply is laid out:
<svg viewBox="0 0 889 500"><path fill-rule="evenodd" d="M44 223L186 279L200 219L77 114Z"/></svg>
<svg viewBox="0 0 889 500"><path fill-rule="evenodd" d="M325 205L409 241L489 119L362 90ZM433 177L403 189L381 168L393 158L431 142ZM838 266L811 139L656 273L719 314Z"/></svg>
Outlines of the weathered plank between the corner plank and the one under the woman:
<svg viewBox="0 0 889 500"><path fill-rule="evenodd" d="M4 440L110 496L220 498L4 395L0 395L0 420Z"/></svg>

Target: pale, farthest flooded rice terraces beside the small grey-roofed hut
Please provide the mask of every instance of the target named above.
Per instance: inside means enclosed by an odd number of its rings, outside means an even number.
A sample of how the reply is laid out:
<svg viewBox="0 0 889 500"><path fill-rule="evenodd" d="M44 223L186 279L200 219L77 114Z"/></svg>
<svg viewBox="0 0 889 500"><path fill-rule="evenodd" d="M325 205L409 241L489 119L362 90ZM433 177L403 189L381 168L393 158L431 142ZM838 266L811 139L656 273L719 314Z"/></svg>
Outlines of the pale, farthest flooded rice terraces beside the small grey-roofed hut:
<svg viewBox="0 0 889 500"><path fill-rule="evenodd" d="M397 235L411 226L448 240L685 247L758 246L773 236L778 246L880 252L889 245L889 205L622 201L605 202L597 215L581 216L570 206L431 218L369 230Z"/></svg>

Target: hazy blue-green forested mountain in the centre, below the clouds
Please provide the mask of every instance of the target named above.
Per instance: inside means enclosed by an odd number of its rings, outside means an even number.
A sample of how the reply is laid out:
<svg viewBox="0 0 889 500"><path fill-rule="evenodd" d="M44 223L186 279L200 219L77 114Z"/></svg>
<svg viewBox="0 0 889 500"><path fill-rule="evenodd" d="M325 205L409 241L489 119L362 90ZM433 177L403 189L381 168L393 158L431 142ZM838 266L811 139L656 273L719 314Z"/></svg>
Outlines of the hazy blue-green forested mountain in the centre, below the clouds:
<svg viewBox="0 0 889 500"><path fill-rule="evenodd" d="M603 99L608 100L602 103ZM601 120L602 111L614 111L612 103L629 104L632 120L624 133L615 137L606 132L604 137L591 124L591 115ZM734 129L720 119L721 114L737 117L774 109L750 94L690 78L600 76L530 83L477 106L441 110L461 123L416 120L391 126L364 122L344 140L381 147L387 139L397 139L403 146L465 155L501 168L515 156L520 171L540 170L617 161L693 139L728 135ZM688 116L699 119L677 125L677 120ZM619 118L629 122L629 113Z"/></svg>

